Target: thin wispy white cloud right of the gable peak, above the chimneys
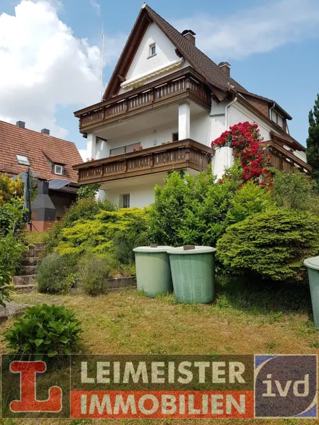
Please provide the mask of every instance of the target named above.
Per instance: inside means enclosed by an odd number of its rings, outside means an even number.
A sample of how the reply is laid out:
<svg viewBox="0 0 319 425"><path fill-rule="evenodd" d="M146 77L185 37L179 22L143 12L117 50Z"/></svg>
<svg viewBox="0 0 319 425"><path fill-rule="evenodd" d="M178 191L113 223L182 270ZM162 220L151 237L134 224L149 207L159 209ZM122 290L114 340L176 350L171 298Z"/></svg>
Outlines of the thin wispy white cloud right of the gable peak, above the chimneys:
<svg viewBox="0 0 319 425"><path fill-rule="evenodd" d="M318 35L319 1L266 1L226 17L197 15L174 25L194 30L196 45L214 59L242 59Z"/></svg>

